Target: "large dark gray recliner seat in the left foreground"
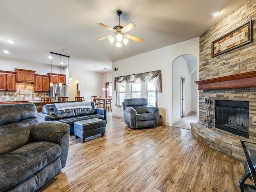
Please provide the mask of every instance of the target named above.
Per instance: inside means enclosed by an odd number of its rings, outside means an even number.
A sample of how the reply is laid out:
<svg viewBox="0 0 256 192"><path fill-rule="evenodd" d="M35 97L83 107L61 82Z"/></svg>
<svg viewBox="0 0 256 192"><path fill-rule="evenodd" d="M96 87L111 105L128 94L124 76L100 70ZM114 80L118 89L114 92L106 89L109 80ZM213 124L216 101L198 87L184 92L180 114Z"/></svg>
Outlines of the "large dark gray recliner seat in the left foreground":
<svg viewBox="0 0 256 192"><path fill-rule="evenodd" d="M0 105L0 192L33 192L66 165L70 126L38 122L33 103Z"/></svg>

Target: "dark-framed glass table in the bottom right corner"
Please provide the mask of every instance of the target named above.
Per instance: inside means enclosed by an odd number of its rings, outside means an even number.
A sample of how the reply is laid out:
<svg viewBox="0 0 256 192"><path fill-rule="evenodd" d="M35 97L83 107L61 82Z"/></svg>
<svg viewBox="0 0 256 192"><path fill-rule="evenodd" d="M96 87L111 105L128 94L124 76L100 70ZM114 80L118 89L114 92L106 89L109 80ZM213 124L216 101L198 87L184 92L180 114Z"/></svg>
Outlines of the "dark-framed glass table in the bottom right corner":
<svg viewBox="0 0 256 192"><path fill-rule="evenodd" d="M244 150L244 156L246 158L245 171L246 173L242 176L238 185L241 192L256 192L256 143L241 141L242 148ZM244 182L248 177L252 177L253 185L245 184Z"/></svg>

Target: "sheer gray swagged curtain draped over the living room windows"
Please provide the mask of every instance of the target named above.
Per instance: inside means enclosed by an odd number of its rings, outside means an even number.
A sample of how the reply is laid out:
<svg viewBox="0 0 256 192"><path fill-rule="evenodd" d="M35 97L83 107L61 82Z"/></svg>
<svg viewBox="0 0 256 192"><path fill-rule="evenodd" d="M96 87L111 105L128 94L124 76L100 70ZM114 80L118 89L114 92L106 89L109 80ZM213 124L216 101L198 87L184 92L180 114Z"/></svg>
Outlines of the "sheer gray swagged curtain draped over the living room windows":
<svg viewBox="0 0 256 192"><path fill-rule="evenodd" d="M143 82L154 82L155 93L162 93L162 73L161 70L156 70L152 72L139 73L134 75L126 75L121 77L115 77L114 81L114 91L116 91L116 106L118 106L118 96L119 96L119 86L118 83L138 83L140 81ZM156 105L158 106L158 99L156 99Z"/></svg>

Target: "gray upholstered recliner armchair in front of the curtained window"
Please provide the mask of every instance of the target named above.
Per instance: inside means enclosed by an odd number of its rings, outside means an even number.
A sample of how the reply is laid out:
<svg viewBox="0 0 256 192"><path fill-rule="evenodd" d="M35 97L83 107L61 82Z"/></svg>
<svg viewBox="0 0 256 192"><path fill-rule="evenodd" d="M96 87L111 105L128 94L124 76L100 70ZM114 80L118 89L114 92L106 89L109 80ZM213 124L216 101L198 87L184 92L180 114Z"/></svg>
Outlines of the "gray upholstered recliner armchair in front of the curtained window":
<svg viewBox="0 0 256 192"><path fill-rule="evenodd" d="M135 129L157 126L159 109L154 106L148 106L148 99L125 99L122 105L125 123L130 128Z"/></svg>

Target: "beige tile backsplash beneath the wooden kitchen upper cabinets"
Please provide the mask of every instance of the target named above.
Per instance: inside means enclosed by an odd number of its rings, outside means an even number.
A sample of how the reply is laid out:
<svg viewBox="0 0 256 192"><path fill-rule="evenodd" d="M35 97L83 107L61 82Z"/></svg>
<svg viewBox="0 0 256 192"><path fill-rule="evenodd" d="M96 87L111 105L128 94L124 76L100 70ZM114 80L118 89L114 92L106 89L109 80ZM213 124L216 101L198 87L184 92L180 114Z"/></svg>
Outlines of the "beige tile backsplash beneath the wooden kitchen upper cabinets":
<svg viewBox="0 0 256 192"><path fill-rule="evenodd" d="M40 97L48 96L49 92L34 92L32 83L16 83L16 92L0 91L0 101L41 100Z"/></svg>

